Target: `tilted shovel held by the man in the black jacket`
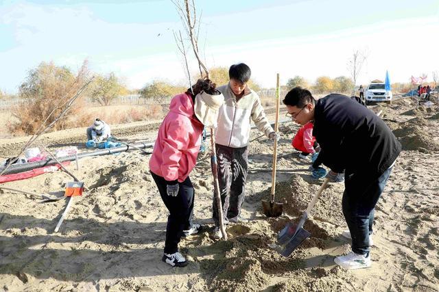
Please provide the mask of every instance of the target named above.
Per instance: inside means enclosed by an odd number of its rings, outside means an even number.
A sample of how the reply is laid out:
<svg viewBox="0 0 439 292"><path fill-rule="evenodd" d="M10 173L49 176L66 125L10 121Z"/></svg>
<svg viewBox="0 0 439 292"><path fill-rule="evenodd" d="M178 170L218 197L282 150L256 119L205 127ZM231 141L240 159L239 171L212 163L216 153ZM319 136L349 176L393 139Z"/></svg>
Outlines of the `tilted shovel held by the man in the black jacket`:
<svg viewBox="0 0 439 292"><path fill-rule="evenodd" d="M309 212L311 212L311 209L313 209L314 204L316 204L318 197L320 197L320 194L322 194L322 191L324 187L327 186L328 182L329 182L329 178L325 178L316 196L314 196L313 200L311 200L307 210L305 211L305 213L303 213L302 217L300 218L299 223L296 226L294 226L291 222L289 222L287 226L285 226L278 234L278 243L281 245L286 243L285 248L281 252L283 256L286 257L292 254L292 252L296 250L296 248L302 243L302 241L304 241L309 237L309 235L311 235L311 233L309 233L307 230L303 228L303 224L305 224Z"/></svg>

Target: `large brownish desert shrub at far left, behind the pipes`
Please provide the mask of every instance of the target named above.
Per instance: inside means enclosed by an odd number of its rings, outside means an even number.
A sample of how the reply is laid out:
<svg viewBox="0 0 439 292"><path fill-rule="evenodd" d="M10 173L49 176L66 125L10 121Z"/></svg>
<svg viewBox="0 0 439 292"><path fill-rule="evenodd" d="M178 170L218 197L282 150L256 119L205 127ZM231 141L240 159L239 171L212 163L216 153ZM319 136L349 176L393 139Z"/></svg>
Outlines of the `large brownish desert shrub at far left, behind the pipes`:
<svg viewBox="0 0 439 292"><path fill-rule="evenodd" d="M82 88L88 77L86 62L77 75L66 67L42 62L29 71L25 81L19 87L19 97L27 103L12 109L14 120L8 123L8 130L14 134L33 134L43 129L62 112L69 99ZM83 115L85 103L78 98L63 118L58 120L52 130L76 127Z"/></svg>

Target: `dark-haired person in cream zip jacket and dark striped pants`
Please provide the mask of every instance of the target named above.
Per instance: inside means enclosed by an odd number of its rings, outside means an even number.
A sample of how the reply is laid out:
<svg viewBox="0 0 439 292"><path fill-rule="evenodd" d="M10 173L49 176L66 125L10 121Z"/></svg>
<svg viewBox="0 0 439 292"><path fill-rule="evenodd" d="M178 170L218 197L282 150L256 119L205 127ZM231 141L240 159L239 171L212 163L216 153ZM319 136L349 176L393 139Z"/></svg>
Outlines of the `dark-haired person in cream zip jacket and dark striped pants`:
<svg viewBox="0 0 439 292"><path fill-rule="evenodd" d="M261 100L248 88L251 70L244 64L234 64L228 70L230 81L217 88L224 95L224 105L219 109L218 127L215 132L219 193L221 194L224 222L238 222L244 202L248 171L247 146L250 140L250 122L272 140L280 135L274 132L265 117ZM215 198L215 196L214 196ZM213 200L214 237L220 239L216 200Z"/></svg>

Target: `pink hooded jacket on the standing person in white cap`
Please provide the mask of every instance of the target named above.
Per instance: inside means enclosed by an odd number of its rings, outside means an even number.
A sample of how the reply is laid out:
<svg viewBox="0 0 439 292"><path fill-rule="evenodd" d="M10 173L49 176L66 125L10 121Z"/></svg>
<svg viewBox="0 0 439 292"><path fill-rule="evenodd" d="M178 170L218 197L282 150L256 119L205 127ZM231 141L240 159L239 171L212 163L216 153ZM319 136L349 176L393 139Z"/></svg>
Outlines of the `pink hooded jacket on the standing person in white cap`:
<svg viewBox="0 0 439 292"><path fill-rule="evenodd" d="M158 129L150 170L167 181L185 181L195 167L203 127L194 118L191 96L186 93L174 96L169 113Z"/></svg>

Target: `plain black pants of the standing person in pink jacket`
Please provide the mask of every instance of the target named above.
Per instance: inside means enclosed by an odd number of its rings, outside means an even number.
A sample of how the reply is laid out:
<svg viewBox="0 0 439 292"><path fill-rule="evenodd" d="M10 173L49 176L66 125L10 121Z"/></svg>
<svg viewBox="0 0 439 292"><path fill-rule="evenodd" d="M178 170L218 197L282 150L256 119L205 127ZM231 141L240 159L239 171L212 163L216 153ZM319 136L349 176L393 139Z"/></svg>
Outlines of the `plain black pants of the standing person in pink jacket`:
<svg viewBox="0 0 439 292"><path fill-rule="evenodd" d="M189 176L182 183L178 183L178 195L176 197L168 196L166 193L167 182L162 176L158 176L151 172L152 178L156 182L158 192L162 197L169 216L167 217L166 226L166 254L174 254L178 252L178 243L182 237L183 230L188 230L192 226L193 218L193 200L195 191Z"/></svg>

